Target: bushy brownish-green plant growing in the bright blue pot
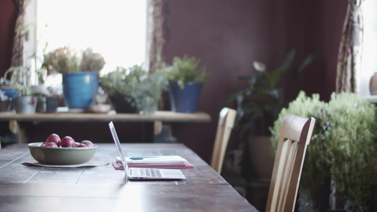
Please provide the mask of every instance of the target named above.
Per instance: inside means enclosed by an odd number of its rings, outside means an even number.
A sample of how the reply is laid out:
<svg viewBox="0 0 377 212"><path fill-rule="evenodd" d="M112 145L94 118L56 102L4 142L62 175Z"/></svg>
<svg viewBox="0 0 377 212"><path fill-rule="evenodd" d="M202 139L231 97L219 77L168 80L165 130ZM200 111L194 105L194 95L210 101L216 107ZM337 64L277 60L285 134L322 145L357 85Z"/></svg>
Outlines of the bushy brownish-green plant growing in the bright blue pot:
<svg viewBox="0 0 377 212"><path fill-rule="evenodd" d="M94 53L91 48L82 52L78 57L78 52L64 46L54 49L44 55L42 68L47 69L48 74L66 73L78 71L100 71L105 65L104 58L99 53Z"/></svg>

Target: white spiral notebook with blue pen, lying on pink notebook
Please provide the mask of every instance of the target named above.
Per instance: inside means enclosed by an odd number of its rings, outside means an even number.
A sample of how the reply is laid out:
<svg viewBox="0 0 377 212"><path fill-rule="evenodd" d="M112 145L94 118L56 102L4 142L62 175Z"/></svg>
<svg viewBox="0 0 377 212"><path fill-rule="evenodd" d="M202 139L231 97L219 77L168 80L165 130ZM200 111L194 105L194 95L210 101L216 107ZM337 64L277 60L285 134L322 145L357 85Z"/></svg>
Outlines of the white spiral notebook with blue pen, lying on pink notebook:
<svg viewBox="0 0 377 212"><path fill-rule="evenodd" d="M188 161L178 155L163 155L163 156L144 156L137 157L138 160L133 160L135 157L125 157L127 164L145 164L145 163L187 163ZM142 158L142 159L140 159ZM120 157L116 157L116 161L121 163Z"/></svg>

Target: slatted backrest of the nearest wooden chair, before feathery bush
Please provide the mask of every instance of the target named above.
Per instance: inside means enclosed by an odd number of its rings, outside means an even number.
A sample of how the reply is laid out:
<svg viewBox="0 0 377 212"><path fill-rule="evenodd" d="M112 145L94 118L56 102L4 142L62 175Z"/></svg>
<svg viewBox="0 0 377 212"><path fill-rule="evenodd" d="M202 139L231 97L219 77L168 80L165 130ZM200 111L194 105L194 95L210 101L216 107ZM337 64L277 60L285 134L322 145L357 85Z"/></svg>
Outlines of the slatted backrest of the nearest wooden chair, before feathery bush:
<svg viewBox="0 0 377 212"><path fill-rule="evenodd" d="M302 165L316 119L288 114L280 129L266 212L294 210Z"/></svg>

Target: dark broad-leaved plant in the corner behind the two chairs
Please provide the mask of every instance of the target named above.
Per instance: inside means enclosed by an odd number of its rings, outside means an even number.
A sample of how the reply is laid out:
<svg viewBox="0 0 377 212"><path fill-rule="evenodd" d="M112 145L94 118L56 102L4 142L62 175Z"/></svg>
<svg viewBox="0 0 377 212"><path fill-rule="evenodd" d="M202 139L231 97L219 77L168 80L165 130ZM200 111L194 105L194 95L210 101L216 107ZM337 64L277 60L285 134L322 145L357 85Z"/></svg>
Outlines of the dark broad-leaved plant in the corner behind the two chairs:
<svg viewBox="0 0 377 212"><path fill-rule="evenodd" d="M241 137L250 133L250 129L254 129L254 133L267 134L268 126L272 126L284 103L284 93L277 84L291 67L295 54L294 49L290 51L282 65L271 72L266 71L264 63L254 61L255 74L238 76L238 80L247 82L248 87L231 95L228 102L237 102L235 131L240 132ZM309 65L315 56L315 53L309 54L294 72L295 75Z"/></svg>

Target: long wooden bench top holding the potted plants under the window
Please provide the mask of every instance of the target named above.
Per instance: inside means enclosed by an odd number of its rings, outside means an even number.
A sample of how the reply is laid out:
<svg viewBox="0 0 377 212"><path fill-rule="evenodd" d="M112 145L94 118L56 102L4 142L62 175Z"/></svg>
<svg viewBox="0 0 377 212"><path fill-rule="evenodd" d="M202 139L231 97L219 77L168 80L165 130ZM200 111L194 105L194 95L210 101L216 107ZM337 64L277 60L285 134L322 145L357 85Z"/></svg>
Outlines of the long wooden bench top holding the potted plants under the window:
<svg viewBox="0 0 377 212"><path fill-rule="evenodd" d="M94 113L35 113L9 114L0 113L0 121L120 121L120 122L209 122L211 117L204 112L177 113L172 111L156 111L153 114L94 114Z"/></svg>

